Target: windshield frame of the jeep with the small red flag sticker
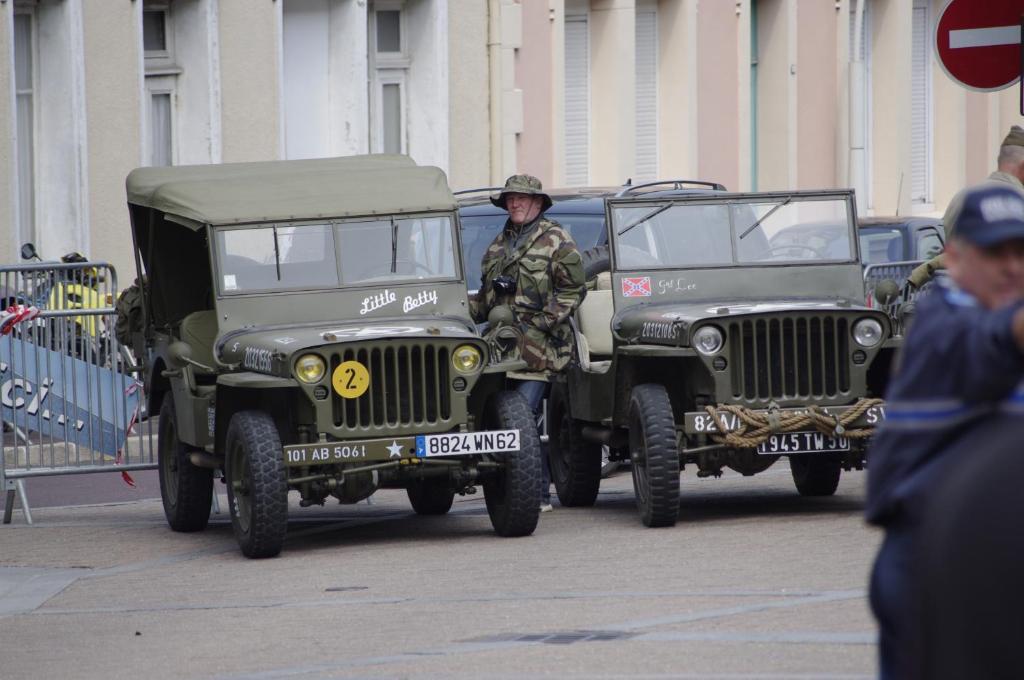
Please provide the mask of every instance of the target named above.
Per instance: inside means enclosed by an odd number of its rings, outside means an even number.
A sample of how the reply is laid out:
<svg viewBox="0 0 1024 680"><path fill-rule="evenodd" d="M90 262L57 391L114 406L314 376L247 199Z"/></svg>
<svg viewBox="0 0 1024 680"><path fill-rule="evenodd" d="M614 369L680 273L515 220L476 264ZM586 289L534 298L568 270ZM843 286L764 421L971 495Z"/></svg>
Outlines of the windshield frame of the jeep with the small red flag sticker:
<svg viewBox="0 0 1024 680"><path fill-rule="evenodd" d="M735 205L749 205L749 204L777 204L781 205L792 205L797 203L808 203L808 202L818 202L818 201L842 201L847 206L847 239L850 244L850 257L840 258L840 259L817 259L817 260L758 260L758 261L741 261L737 258L736 253L738 252L738 228L744 230L751 227L750 224L737 225L734 220L735 211L732 207ZM628 233L629 230L618 231L618 223L615 220L615 210L620 208L646 208L648 211L653 211L655 208L665 206L666 209L675 206L726 206L729 208L729 241L730 248L732 250L732 262L716 262L708 264L645 264L638 266L622 267L620 265L620 238L623 233ZM774 208L772 209L774 210ZM664 212L658 211L658 212ZM761 218L762 220L764 217ZM850 264L856 262L860 264L860 240L857 232L857 206L853 199L852 189L819 189L819 190L797 190L797 192L757 192L757 193L733 193L733 194L717 194L717 195L691 195L684 197L658 197L649 199L630 199L630 198L609 198L605 200L605 223L607 228L607 238L609 244L609 254L611 258L611 270L612 271L658 271L658 270L692 270L692 269L736 269L736 268L748 268L748 267L806 267L806 266L829 266L837 264ZM642 222L641 222L642 223ZM626 222L627 226L632 225L631 222Z"/></svg>

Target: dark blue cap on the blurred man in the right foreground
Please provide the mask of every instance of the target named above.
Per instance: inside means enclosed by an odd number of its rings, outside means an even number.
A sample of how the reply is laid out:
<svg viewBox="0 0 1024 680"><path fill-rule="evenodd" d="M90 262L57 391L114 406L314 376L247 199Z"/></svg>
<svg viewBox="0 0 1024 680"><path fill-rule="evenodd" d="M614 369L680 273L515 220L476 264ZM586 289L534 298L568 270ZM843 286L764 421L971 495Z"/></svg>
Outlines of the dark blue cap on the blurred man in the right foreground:
<svg viewBox="0 0 1024 680"><path fill-rule="evenodd" d="M1024 241L1024 194L1010 186L969 189L953 233L981 248Z"/></svg>

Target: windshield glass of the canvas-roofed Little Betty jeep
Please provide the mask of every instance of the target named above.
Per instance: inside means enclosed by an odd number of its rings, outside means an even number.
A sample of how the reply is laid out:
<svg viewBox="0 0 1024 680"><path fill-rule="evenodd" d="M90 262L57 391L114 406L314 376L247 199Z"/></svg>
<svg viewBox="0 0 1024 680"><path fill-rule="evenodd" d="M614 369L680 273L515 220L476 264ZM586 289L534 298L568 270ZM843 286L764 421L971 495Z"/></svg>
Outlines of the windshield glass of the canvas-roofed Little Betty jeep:
<svg viewBox="0 0 1024 680"><path fill-rule="evenodd" d="M225 295L457 277L447 215L223 227L216 251Z"/></svg>

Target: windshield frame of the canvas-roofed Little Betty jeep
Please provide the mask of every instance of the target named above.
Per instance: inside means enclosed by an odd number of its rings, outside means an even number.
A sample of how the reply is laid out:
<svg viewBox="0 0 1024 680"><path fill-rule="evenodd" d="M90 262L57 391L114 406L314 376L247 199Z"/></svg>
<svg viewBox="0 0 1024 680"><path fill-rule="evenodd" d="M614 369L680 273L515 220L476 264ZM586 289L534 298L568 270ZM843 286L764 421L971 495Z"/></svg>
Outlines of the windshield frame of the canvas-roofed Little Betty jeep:
<svg viewBox="0 0 1024 680"><path fill-rule="evenodd" d="M454 264L452 267L452 275L437 275L430 278L409 278L409 279L391 279L388 281L376 280L376 281L366 281L352 284L344 283L342 275L342 254L339 248L338 235L339 226L348 223L358 223L358 222L380 222L380 221L390 221L393 225L394 222L406 220L406 219L418 219L418 218L447 218L450 238L452 243L452 257ZM334 240L334 260L335 260L335 272L337 275L338 283L332 286L275 286L272 288L260 288L260 289L247 289L240 291L228 291L224 290L224 280L223 280L223 265L221 253L221 248L219 245L218 235L224 231L236 231L243 229L261 229L261 228L282 228L282 227L301 227L301 226L315 226L315 225L328 225L331 227L332 239ZM345 292L345 291L361 291L365 289L379 289L382 286L389 287L399 287L399 286L422 286L424 284L447 284L447 283L458 283L463 281L462 277L462 241L459 233L459 215L456 211L430 211L430 212L416 212L416 213L384 213L384 214L374 214L374 215L359 215L353 217L332 217L332 218L302 218L288 221L273 221L273 222L246 222L239 224L222 224L222 225L208 225L209 229L209 250L210 250L210 260L211 260L211 270L213 271L213 294L217 299L236 299L244 298L250 296L267 296L267 295L298 295L298 294L308 294L308 293L330 293L330 292Z"/></svg>

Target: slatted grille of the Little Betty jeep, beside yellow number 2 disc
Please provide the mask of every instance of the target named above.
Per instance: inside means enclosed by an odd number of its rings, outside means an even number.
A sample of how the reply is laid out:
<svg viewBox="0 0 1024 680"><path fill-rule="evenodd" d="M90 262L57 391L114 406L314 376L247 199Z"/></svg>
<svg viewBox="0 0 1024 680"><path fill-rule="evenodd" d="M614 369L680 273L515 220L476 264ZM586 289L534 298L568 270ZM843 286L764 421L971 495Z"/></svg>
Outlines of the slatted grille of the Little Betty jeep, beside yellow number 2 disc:
<svg viewBox="0 0 1024 680"><path fill-rule="evenodd" d="M452 418L450 350L430 343L346 347L331 356L331 372L356 360L370 372L370 387L354 399L334 393L334 424L346 429L423 426Z"/></svg>

